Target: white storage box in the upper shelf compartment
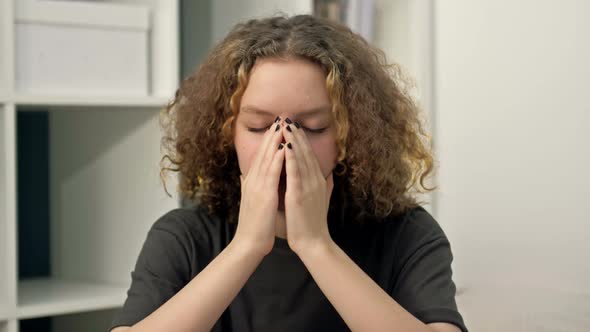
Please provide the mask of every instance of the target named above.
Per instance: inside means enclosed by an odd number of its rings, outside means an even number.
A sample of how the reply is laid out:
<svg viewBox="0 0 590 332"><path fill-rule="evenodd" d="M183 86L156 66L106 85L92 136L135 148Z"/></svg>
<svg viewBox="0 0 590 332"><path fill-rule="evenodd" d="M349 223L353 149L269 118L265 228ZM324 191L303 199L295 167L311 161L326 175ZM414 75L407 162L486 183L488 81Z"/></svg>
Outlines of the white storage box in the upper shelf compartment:
<svg viewBox="0 0 590 332"><path fill-rule="evenodd" d="M149 15L141 5L18 1L16 91L149 95Z"/></svg>

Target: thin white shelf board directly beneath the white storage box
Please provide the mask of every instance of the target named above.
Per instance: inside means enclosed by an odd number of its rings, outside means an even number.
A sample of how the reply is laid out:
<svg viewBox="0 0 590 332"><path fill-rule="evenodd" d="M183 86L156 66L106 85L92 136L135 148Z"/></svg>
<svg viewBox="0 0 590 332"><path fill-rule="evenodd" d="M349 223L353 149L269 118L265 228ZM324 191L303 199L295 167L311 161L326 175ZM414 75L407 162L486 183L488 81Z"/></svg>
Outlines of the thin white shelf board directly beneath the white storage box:
<svg viewBox="0 0 590 332"><path fill-rule="evenodd" d="M119 97L119 96L37 96L17 95L13 98L17 106L48 106L48 107L164 107L167 98L162 97Z"/></svg>

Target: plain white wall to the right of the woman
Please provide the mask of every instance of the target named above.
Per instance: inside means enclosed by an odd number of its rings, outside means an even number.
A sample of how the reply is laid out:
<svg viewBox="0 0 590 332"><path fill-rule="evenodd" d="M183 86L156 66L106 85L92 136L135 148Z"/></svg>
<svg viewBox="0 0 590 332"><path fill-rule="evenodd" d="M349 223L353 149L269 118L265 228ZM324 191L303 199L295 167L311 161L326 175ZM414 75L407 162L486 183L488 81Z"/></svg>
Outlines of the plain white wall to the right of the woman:
<svg viewBox="0 0 590 332"><path fill-rule="evenodd" d="M590 330L590 2L435 8L437 218L473 331Z"/></svg>

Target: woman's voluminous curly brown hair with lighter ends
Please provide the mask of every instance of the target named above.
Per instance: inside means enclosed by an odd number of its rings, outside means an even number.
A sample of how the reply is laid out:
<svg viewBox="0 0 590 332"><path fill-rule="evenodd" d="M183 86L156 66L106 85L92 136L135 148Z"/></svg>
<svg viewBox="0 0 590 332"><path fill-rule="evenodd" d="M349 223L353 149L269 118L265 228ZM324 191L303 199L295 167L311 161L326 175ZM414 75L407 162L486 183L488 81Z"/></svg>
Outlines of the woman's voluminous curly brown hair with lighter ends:
<svg viewBox="0 0 590 332"><path fill-rule="evenodd" d="M330 202L356 220L398 215L420 203L433 172L430 136L411 97L413 81L346 26L310 15L237 24L185 78L162 110L160 161L180 172L178 192L235 222L241 198L234 121L254 63L298 57L326 75L339 148ZM362 222L362 221L361 221Z"/></svg>

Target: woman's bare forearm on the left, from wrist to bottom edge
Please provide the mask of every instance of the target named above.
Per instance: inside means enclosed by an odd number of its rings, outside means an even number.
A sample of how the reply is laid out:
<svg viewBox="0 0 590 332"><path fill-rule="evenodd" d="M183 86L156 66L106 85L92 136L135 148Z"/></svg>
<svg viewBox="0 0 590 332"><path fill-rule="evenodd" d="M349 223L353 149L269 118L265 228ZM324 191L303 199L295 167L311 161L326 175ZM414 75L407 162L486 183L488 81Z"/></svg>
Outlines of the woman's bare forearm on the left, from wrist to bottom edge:
<svg viewBox="0 0 590 332"><path fill-rule="evenodd" d="M128 331L210 331L264 255L230 243L170 300Z"/></svg>

